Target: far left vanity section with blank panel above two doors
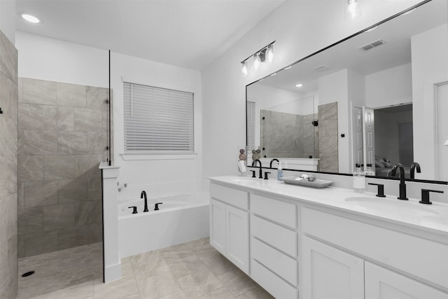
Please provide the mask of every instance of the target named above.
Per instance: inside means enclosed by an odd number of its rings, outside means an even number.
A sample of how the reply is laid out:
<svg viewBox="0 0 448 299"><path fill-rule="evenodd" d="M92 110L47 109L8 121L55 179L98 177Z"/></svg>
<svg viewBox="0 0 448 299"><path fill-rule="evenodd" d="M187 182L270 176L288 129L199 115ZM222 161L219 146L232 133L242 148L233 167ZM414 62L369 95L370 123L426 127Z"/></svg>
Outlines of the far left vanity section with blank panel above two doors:
<svg viewBox="0 0 448 299"><path fill-rule="evenodd" d="M212 183L210 195L210 244L248 273L248 193Z"/></svg>

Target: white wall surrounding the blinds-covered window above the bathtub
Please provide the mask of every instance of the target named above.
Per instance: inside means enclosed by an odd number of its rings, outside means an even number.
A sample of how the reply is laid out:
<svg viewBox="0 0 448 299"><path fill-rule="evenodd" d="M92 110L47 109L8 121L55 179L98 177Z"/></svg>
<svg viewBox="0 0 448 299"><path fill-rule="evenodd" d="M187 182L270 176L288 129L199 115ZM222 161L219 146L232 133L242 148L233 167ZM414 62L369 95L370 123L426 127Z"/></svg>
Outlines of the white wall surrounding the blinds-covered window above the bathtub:
<svg viewBox="0 0 448 299"><path fill-rule="evenodd" d="M120 182L134 185L151 185L176 181L202 179L202 88L199 71L174 67L159 62L142 60L118 53L111 56L111 85L113 92L115 163L120 165ZM130 157L138 160L123 160L123 80L144 85L171 88L195 94L195 155ZM141 160L151 159L151 160ZM146 190L151 196L151 190Z"/></svg>

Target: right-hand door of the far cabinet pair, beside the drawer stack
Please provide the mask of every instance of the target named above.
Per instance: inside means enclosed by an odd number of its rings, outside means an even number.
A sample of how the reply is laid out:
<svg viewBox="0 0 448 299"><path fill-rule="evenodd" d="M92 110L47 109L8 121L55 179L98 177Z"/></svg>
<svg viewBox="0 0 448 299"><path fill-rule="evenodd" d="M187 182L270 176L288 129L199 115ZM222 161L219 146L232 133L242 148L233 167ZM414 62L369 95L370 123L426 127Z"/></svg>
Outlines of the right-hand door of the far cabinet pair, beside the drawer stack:
<svg viewBox="0 0 448 299"><path fill-rule="evenodd" d="M226 253L232 263L248 273L249 224L248 213L234 207L225 207Z"/></svg>

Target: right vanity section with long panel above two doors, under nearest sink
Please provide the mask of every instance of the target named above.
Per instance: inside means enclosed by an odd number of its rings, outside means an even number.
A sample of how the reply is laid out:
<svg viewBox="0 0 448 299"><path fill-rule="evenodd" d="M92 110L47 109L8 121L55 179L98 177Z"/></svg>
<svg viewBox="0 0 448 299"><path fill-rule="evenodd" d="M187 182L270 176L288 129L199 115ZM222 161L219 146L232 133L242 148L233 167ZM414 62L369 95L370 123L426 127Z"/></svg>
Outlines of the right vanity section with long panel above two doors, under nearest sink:
<svg viewBox="0 0 448 299"><path fill-rule="evenodd" d="M447 288L447 244L335 211L303 207L301 218L304 298L448 298L411 278Z"/></svg>

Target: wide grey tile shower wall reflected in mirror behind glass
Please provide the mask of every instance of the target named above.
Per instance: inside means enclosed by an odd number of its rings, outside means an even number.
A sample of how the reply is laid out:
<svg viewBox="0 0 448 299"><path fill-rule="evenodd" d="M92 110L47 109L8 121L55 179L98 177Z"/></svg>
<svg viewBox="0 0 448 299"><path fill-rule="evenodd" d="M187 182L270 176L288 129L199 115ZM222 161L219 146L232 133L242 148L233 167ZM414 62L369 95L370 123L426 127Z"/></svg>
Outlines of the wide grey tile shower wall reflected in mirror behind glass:
<svg viewBox="0 0 448 299"><path fill-rule="evenodd" d="M262 148L267 157L315 158L314 114L262 110Z"/></svg>

